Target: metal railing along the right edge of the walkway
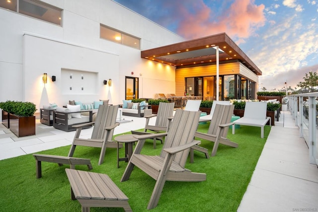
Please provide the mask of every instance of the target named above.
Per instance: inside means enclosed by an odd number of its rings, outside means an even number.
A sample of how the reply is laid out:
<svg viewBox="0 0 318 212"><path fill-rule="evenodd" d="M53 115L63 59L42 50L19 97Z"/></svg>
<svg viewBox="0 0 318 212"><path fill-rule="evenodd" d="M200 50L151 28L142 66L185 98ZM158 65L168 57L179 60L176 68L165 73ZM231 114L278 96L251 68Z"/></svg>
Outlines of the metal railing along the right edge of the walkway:
<svg viewBox="0 0 318 212"><path fill-rule="evenodd" d="M318 164L317 149L317 97L318 92L288 95L288 106L295 125L299 127L299 136L309 147L311 164ZM305 99L305 101L304 101Z"/></svg>

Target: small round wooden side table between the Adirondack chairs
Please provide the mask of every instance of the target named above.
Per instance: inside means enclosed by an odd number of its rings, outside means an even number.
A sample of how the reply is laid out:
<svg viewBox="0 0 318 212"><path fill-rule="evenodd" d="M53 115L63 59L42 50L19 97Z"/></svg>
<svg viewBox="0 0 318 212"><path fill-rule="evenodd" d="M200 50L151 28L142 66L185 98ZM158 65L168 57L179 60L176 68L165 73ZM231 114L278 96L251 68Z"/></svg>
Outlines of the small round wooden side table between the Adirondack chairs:
<svg viewBox="0 0 318 212"><path fill-rule="evenodd" d="M117 168L119 168L119 161L128 162L133 154L133 145L138 139L134 138L136 135L121 135L114 138L117 141ZM119 143L125 143L125 157L119 158Z"/></svg>

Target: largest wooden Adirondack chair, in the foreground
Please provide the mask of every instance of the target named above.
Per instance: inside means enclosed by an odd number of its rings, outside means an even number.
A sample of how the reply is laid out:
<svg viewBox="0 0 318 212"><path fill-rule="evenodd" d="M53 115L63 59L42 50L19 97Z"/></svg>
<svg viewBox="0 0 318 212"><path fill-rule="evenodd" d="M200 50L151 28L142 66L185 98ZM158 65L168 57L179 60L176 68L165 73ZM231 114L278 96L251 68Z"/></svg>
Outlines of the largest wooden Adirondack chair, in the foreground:
<svg viewBox="0 0 318 212"><path fill-rule="evenodd" d="M194 134L198 127L200 111L176 110L167 133L156 136L166 136L160 155L151 156L140 154L145 140L154 135L136 136L139 140L121 182L129 179L134 166L139 167L157 182L147 209L158 205L160 194L165 181L195 181L206 180L205 173L195 173L184 168L191 146L200 143L194 141Z"/></svg>

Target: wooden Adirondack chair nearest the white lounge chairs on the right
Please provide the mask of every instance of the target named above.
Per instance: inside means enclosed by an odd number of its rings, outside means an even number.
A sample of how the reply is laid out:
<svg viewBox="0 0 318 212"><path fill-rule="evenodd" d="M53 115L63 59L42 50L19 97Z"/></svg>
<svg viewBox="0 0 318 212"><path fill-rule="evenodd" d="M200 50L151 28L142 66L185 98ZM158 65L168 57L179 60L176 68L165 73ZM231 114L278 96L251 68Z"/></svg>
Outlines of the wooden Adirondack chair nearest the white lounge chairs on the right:
<svg viewBox="0 0 318 212"><path fill-rule="evenodd" d="M234 105L216 104L208 133L196 132L194 135L195 138L200 138L214 142L211 156L216 155L219 143L229 145L232 147L239 146L238 143L235 143L227 139L229 126L233 125L233 123L231 123L233 111ZM192 149L200 151L198 146L194 146L192 147ZM193 158L193 151L191 151L191 157Z"/></svg>

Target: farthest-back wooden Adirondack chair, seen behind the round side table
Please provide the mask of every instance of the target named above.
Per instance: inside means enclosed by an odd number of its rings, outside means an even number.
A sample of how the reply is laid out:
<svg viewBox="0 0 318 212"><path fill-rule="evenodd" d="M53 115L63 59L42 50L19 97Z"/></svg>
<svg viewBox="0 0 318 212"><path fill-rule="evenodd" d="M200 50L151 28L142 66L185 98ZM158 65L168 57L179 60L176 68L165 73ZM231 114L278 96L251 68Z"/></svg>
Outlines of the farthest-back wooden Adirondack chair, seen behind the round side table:
<svg viewBox="0 0 318 212"><path fill-rule="evenodd" d="M174 103L165 103L160 102L158 107L158 113L152 114L150 116L144 116L146 118L146 126L144 132L131 131L135 135L145 135L145 134L154 134L159 132L166 132L168 128L169 117L173 116ZM150 118L156 117L155 125L149 125ZM151 131L151 132L147 132ZM154 148L156 148L156 140L160 140L162 143L162 138L154 137Z"/></svg>

